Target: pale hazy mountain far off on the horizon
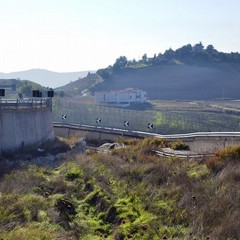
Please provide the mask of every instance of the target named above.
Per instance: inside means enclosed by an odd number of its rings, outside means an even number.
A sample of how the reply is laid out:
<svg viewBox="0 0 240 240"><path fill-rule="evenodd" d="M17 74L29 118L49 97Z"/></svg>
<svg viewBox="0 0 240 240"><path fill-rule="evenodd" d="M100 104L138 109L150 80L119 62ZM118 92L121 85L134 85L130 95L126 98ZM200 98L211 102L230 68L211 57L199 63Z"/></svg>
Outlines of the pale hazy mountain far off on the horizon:
<svg viewBox="0 0 240 240"><path fill-rule="evenodd" d="M31 69L20 72L0 73L0 79L21 79L36 82L45 87L56 88L71 81L85 77L89 72L95 71L80 71L80 72L53 72L45 69Z"/></svg>

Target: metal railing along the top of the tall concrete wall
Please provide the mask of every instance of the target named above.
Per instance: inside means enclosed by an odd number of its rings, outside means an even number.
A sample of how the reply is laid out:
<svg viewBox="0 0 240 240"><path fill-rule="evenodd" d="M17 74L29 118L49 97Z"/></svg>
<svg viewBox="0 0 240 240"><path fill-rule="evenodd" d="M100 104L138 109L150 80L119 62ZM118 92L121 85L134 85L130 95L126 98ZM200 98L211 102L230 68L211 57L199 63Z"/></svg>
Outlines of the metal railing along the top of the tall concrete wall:
<svg viewBox="0 0 240 240"><path fill-rule="evenodd" d="M0 109L51 108L50 98L0 98Z"/></svg>

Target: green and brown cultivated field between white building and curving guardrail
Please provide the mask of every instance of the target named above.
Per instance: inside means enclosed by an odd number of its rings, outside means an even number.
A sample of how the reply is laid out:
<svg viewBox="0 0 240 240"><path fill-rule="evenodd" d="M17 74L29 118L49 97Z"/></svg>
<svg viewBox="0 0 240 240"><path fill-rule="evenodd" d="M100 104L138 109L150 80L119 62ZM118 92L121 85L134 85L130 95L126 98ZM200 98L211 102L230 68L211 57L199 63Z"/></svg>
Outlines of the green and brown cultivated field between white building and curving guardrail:
<svg viewBox="0 0 240 240"><path fill-rule="evenodd" d="M55 98L53 119L79 124L152 131L160 134L189 133L198 131L240 131L240 107L234 101L152 101L144 108L120 108L96 104L90 98ZM129 127L124 127L124 121ZM154 129L147 128L148 123Z"/></svg>

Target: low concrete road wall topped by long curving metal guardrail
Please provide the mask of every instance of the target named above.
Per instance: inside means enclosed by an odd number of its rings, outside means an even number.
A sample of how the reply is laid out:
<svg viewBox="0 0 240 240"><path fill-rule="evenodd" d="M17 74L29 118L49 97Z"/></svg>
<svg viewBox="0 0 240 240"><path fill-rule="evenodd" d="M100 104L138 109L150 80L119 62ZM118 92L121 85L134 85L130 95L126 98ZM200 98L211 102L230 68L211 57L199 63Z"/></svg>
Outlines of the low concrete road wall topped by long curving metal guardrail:
<svg viewBox="0 0 240 240"><path fill-rule="evenodd" d="M71 134L80 134L85 136L87 141L92 141L97 144L107 141L116 141L119 137L159 137L165 138L169 141L181 140L188 144L191 151L196 153L213 153L218 149L240 144L240 132L196 132L188 134L161 135L150 132L66 122L54 122L53 126L55 135L57 136L66 137Z"/></svg>

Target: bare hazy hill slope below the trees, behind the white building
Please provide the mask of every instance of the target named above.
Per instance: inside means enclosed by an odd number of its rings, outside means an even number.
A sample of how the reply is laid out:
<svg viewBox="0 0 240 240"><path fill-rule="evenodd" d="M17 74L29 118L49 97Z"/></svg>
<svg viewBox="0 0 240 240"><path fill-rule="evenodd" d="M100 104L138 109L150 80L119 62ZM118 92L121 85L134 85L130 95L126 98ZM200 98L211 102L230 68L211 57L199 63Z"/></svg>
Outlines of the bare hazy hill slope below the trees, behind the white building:
<svg viewBox="0 0 240 240"><path fill-rule="evenodd" d="M232 67L159 64L114 72L95 90L139 88L150 99L212 100L240 97L240 64Z"/></svg>

